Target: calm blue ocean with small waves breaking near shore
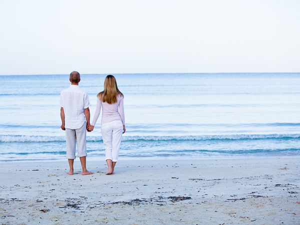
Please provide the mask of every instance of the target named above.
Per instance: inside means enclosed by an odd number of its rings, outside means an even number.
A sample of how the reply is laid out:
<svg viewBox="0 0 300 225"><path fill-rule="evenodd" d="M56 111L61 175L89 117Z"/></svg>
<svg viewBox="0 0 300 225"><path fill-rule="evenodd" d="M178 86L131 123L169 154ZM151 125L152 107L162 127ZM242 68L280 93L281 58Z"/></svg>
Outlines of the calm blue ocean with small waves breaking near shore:
<svg viewBox="0 0 300 225"><path fill-rule="evenodd" d="M300 73L113 74L124 94L119 159L300 154ZM81 74L91 120L106 74ZM0 76L0 161L65 160L68 75ZM104 160L100 117L88 160Z"/></svg>

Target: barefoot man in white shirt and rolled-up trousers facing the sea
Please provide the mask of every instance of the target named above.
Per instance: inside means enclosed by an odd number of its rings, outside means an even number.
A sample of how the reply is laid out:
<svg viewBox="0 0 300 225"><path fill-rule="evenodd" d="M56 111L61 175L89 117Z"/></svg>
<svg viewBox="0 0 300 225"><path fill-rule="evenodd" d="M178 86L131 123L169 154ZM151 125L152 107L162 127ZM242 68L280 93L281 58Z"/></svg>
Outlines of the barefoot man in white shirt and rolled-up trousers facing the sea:
<svg viewBox="0 0 300 225"><path fill-rule="evenodd" d="M89 123L89 100L86 91L79 88L80 74L77 71L70 73L71 85L60 92L61 129L65 130L66 157L73 175L76 142L77 156L80 158L82 175L88 175L86 169L86 127ZM85 118L84 118L85 117ZM86 120L86 121L85 121Z"/></svg>

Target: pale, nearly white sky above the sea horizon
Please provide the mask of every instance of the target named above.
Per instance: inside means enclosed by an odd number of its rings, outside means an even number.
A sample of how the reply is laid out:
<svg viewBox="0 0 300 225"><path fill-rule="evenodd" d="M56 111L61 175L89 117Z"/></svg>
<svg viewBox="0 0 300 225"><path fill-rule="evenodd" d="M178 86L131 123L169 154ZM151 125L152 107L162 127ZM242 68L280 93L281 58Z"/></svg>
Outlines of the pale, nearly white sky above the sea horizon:
<svg viewBox="0 0 300 225"><path fill-rule="evenodd" d="M0 74L300 72L300 0L0 0Z"/></svg>

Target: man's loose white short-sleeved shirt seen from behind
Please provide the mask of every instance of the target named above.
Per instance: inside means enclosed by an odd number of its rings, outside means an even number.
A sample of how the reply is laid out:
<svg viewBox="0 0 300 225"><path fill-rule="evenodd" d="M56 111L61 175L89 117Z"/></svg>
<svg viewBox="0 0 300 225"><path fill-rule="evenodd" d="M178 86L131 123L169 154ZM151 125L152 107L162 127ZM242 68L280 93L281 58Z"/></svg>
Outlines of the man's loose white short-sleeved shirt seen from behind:
<svg viewBox="0 0 300 225"><path fill-rule="evenodd" d="M65 128L78 129L85 122L84 108L89 107L87 92L78 85L70 85L60 92L60 106L63 107Z"/></svg>

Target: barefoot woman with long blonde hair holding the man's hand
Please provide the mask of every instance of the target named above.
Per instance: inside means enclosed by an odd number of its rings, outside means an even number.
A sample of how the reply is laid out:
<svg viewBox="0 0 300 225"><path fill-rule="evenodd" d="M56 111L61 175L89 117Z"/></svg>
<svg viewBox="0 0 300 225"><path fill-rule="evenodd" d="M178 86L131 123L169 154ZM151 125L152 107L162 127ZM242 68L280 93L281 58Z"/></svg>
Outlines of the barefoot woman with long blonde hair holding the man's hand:
<svg viewBox="0 0 300 225"><path fill-rule="evenodd" d="M123 98L124 95L117 88L114 76L107 75L104 80L104 90L97 94L97 106L93 120L87 127L88 131L93 130L102 107L101 132L108 167L106 174L113 174L122 133L126 131Z"/></svg>

